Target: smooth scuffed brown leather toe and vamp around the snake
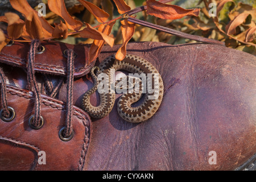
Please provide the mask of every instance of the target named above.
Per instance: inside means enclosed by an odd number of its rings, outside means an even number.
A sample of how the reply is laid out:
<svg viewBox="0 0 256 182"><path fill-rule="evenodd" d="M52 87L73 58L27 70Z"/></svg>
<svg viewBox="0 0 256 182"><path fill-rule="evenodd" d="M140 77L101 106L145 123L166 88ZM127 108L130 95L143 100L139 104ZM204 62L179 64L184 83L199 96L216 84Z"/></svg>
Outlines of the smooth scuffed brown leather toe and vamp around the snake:
<svg viewBox="0 0 256 182"><path fill-rule="evenodd" d="M95 64L118 48L105 46ZM123 121L116 103L107 117L92 118L85 170L231 170L256 153L255 56L208 44L152 42L130 43L127 53L158 69L164 82L162 105L140 124ZM26 71L7 68L8 84L25 87ZM77 107L92 85L87 75L75 78ZM65 94L64 84L60 101L65 102ZM97 94L91 101L99 104ZM216 151L216 165L208 163L210 151Z"/></svg>

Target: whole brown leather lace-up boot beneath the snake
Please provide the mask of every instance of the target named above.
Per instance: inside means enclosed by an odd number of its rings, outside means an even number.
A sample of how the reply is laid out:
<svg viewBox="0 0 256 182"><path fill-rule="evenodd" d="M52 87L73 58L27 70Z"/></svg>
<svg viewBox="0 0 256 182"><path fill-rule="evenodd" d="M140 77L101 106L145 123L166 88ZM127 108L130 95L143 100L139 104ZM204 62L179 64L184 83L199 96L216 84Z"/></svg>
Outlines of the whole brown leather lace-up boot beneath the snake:
<svg viewBox="0 0 256 182"><path fill-rule="evenodd" d="M209 44L130 43L127 53L162 76L162 104L148 121L128 123L117 113L117 95L110 114L91 122L80 109L93 85L89 46L43 42L36 53L38 45L15 42L0 53L1 170L252 168L255 56ZM95 64L118 48L104 47ZM98 95L91 101L99 103Z"/></svg>

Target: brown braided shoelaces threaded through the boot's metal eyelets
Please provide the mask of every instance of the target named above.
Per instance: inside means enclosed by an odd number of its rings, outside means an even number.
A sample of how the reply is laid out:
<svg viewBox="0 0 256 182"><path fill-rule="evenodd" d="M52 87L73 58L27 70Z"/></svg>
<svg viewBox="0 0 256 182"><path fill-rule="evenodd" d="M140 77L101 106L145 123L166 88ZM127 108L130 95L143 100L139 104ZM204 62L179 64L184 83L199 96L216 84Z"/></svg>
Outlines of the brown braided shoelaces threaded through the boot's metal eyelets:
<svg viewBox="0 0 256 182"><path fill-rule="evenodd" d="M28 52L27 60L27 89L34 92L34 111L35 113L29 118L30 127L32 129L38 130L43 126L43 117L41 115L41 93L36 82L34 61L35 55L40 47L39 40L32 40L30 44L30 51ZM60 130L59 137L61 140L68 141L73 137L73 127L72 127L72 115L73 115L73 74L74 74L74 60L75 52L72 49L65 51L67 56L67 102L66 102L66 118L65 126ZM63 85L63 80L59 80L56 88L53 88L51 81L49 81L48 76L46 78L46 85L48 88L48 94L50 97L55 97L57 90ZM7 91L6 91L6 77L2 68L0 68L0 81L1 81L1 111L0 118L3 121L10 122L15 117L15 111L12 107L7 105Z"/></svg>

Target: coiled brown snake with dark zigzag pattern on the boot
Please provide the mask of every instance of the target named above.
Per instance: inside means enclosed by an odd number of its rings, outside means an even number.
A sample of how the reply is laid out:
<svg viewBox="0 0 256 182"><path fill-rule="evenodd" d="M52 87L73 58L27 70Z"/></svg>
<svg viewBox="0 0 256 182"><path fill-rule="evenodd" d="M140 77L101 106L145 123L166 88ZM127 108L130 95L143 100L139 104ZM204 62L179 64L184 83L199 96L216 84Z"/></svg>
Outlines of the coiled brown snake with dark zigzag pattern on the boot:
<svg viewBox="0 0 256 182"><path fill-rule="evenodd" d="M113 74L111 74L111 69L118 71L118 70L125 70L131 73L141 73L147 74L151 73L152 75L158 74L158 77L153 77L154 79L159 79L158 84L154 84L153 87L158 87L158 95L155 99L150 99L150 96L154 95L154 93L146 92L144 97L142 97L142 85L140 84L140 92L139 93L124 93L119 98L117 103L117 110L118 114L121 118L125 121L132 122L132 123L139 123L147 121L147 119L151 118L152 115L158 110L162 98L163 98L163 81L159 75L159 72L156 68L150 64L148 61L142 59L141 57L134 56L127 54L125 59L122 61L115 60L115 56L112 55L102 61L102 63L98 67L93 67L90 71L94 85L93 88L89 89L85 92L81 106L82 109L85 110L90 117L93 118L103 118L110 113L113 109L115 103L115 93L110 92L111 83L108 84L108 92L106 93L99 93L100 95L100 104L98 106L93 106L90 104L90 96L96 92L98 89L99 81L97 76L100 73L105 73L110 78L109 80L113 79ZM95 72L96 71L96 75ZM153 79L152 78L152 79ZM151 85L152 86L152 85ZM142 103L139 106L132 106L135 102L142 99Z"/></svg>

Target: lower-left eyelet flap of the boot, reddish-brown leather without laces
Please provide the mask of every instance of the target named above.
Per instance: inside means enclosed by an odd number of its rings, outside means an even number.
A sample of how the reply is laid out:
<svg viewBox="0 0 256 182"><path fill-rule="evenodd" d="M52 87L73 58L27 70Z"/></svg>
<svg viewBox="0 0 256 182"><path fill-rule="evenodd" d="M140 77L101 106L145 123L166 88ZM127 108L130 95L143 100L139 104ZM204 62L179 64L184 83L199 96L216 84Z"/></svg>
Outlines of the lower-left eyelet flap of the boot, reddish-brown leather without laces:
<svg viewBox="0 0 256 182"><path fill-rule="evenodd" d="M44 125L32 130L28 118L33 114L32 93L13 86L7 88L8 105L16 111L11 122L0 121L0 170L77 170L84 166L89 146L90 119L73 107L74 136L68 142L59 138L65 125L63 102L42 95ZM46 164L38 163L38 152L46 152Z"/></svg>

